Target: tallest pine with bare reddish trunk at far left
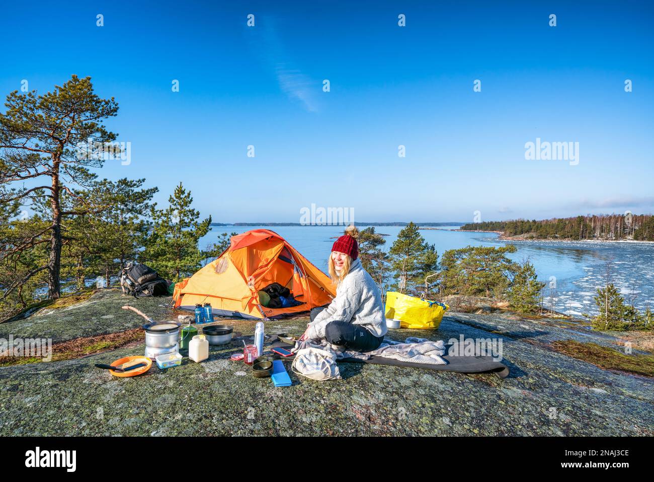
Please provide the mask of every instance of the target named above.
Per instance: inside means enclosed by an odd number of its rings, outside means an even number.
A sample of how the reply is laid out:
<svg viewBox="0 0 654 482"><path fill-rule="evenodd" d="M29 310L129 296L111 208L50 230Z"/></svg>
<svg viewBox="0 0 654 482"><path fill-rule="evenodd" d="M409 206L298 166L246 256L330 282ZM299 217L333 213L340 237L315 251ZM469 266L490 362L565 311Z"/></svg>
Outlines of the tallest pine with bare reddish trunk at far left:
<svg viewBox="0 0 654 482"><path fill-rule="evenodd" d="M73 215L61 205L61 199L64 193L72 193L72 187L84 185L94 176L89 167L102 166L103 157L89 149L80 150L80 146L89 139L101 144L116 139L102 122L116 115L118 104L114 98L99 98L90 77L73 75L43 95L15 90L5 105L7 113L0 113L0 202L27 204L35 200L37 191L46 192L51 223L39 234L39 242L47 240L50 253L44 267L37 267L33 274L47 270L48 297L56 299L61 295L64 225ZM25 181L35 181L37 186L26 186Z"/></svg>

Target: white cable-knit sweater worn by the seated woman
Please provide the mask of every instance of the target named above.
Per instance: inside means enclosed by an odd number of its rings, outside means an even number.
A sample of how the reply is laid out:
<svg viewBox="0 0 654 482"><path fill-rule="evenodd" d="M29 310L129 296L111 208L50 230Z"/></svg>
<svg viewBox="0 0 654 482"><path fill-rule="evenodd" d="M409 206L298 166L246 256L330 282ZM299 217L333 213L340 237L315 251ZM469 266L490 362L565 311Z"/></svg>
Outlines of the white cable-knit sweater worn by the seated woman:
<svg viewBox="0 0 654 482"><path fill-rule="evenodd" d="M381 292L360 259L350 265L350 272L336 287L336 298L309 324L307 335L312 340L323 339L326 325L334 320L361 325L375 337L388 331Z"/></svg>

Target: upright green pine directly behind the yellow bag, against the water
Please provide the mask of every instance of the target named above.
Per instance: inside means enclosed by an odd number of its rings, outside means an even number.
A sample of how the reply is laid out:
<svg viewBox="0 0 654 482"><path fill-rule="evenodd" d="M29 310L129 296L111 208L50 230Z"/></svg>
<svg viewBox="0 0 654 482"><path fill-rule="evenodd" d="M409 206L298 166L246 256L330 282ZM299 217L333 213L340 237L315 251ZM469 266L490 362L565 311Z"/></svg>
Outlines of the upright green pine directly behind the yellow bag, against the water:
<svg viewBox="0 0 654 482"><path fill-rule="evenodd" d="M390 259L396 279L392 289L409 295L421 295L424 279L438 269L436 246L422 238L413 222L398 233L390 247Z"/></svg>

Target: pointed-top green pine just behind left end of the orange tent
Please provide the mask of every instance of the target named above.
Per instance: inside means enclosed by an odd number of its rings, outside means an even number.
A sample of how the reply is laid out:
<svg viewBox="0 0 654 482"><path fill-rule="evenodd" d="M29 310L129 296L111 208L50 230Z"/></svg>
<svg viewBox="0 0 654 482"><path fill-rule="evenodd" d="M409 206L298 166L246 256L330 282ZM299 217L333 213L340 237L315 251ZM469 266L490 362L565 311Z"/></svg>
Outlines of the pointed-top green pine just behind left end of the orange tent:
<svg viewBox="0 0 654 482"><path fill-rule="evenodd" d="M177 282L191 276L201 266L203 255L198 241L209 232L211 216L198 221L199 212L191 207L193 198L182 183L168 202L164 210L156 209L156 204L152 206L152 232L141 259L160 276Z"/></svg>

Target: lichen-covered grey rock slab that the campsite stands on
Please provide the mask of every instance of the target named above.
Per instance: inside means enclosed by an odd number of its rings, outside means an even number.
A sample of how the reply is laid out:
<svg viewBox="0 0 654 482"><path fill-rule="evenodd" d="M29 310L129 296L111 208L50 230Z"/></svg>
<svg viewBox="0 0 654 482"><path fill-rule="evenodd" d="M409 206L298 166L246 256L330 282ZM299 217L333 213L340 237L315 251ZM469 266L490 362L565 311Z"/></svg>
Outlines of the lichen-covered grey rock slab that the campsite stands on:
<svg viewBox="0 0 654 482"><path fill-rule="evenodd" d="M58 315L35 314L0 325L0 337L50 334L59 340L116 333L142 320L121 310L133 303L155 319L174 320L168 299L129 299L105 290ZM107 315L113 318L102 318ZM67 318L63 322L63 318ZM39 319L43 323L35 323ZM290 371L290 387L250 375L230 355L251 342L252 320L220 320L235 339L211 346L209 360L186 356L179 367L153 367L118 379L94 367L141 355L145 343L60 362L0 367L0 426L7 435L654 435L653 380L605 370L549 348L554 341L592 341L619 348L615 337L555 320L493 314L446 314L438 330L390 330L388 337L432 340L501 337L506 379L492 374L341 363L342 380L316 382ZM29 325L29 323L32 323ZM307 316L266 323L267 334L300 335ZM145 341L145 337L144 337ZM186 355L186 352L182 351Z"/></svg>

